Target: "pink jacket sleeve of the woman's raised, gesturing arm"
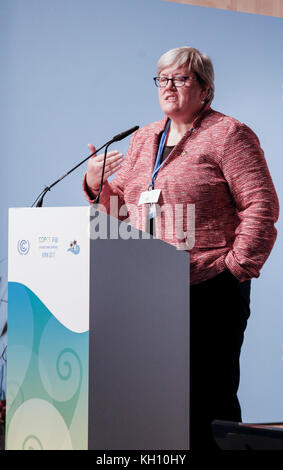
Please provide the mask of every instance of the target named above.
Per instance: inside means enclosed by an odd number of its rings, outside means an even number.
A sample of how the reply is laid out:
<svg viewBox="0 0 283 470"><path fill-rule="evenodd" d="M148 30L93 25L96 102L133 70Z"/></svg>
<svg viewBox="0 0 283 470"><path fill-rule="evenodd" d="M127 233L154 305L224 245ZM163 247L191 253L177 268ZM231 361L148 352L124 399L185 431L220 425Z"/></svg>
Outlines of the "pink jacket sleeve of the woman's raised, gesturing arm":
<svg viewBox="0 0 283 470"><path fill-rule="evenodd" d="M109 215L117 217L120 220L127 218L125 211L123 211L122 216L119 216L119 212L121 207L125 204L124 188L132 168L132 153L135 147L135 136L136 133L134 133L131 137L127 155L125 156L119 171L116 173L114 179L111 182L105 181L100 194L100 208ZM93 204L96 195L94 195L88 188L86 183L86 175L84 176L83 180L83 192L88 202Z"/></svg>

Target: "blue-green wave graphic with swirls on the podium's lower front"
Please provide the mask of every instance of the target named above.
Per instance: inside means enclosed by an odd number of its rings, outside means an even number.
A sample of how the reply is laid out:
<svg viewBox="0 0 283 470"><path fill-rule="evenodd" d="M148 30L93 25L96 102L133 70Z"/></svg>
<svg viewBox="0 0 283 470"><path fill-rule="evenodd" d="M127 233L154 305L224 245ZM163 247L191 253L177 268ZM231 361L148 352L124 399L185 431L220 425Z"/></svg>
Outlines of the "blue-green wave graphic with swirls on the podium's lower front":
<svg viewBox="0 0 283 470"><path fill-rule="evenodd" d="M89 333L65 328L22 284L9 284L9 303L7 449L87 449Z"/></svg>

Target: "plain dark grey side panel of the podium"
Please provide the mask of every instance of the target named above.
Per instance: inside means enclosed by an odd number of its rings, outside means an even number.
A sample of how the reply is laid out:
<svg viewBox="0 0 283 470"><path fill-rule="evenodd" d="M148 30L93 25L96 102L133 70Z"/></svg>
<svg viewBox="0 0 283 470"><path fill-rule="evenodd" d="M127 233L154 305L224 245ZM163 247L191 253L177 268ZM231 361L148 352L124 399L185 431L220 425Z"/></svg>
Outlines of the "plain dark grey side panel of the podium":
<svg viewBox="0 0 283 470"><path fill-rule="evenodd" d="M188 449L189 254L129 230L91 240L89 448Z"/></svg>

